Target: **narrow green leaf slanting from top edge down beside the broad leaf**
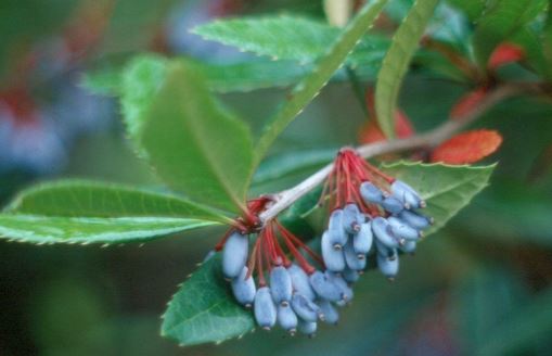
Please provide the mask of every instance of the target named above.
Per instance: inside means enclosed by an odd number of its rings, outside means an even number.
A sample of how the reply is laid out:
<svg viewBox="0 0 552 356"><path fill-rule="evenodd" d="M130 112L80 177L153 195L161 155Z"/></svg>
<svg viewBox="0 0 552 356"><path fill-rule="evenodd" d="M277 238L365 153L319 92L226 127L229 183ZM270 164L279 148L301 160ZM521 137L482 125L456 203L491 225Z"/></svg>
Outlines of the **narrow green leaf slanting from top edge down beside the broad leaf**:
<svg viewBox="0 0 552 356"><path fill-rule="evenodd" d="M305 106L325 86L335 71L342 66L347 54L352 51L362 35L372 26L386 2L387 0L375 0L367 3L329 47L328 52L320 59L314 69L293 89L287 100L277 114L268 120L262 130L255 150L257 162L262 158L285 127L300 114Z"/></svg>

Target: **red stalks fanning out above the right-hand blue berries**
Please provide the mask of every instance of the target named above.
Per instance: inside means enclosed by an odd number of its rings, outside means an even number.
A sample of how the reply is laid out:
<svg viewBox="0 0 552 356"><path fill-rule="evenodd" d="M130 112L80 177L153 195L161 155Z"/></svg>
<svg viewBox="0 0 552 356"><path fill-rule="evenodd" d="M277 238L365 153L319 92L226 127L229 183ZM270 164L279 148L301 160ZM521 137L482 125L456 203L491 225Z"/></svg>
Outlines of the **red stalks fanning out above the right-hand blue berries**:
<svg viewBox="0 0 552 356"><path fill-rule="evenodd" d="M367 204L360 196L359 187L365 181L372 182L376 187L388 187L395 181L395 178L372 166L354 149L342 149L335 158L334 168L325 181L319 204L322 205L323 201L329 198L331 209L342 208L354 203L367 215L381 216L375 204ZM383 190L388 191L388 189Z"/></svg>

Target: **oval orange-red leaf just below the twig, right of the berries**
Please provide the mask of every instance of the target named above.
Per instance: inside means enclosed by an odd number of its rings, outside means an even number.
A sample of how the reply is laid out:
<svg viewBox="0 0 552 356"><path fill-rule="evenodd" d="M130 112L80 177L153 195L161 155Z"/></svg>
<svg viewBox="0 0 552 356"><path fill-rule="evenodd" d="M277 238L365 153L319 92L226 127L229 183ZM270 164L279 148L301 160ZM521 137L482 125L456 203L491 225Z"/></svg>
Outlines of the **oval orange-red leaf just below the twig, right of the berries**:
<svg viewBox="0 0 552 356"><path fill-rule="evenodd" d="M432 152L432 162L468 164L480 161L497 151L502 136L495 130L473 130L459 134Z"/></svg>

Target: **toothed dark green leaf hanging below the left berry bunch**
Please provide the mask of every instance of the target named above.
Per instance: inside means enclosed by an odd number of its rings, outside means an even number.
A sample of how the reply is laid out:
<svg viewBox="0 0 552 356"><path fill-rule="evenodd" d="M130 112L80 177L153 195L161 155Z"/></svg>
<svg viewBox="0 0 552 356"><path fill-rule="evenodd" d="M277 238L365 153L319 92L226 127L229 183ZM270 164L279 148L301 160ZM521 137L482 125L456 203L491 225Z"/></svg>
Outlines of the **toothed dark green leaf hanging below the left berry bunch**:
<svg viewBox="0 0 552 356"><path fill-rule="evenodd" d="M222 342L253 330L253 314L234 302L221 270L220 257L214 256L182 284L163 316L163 336L183 346Z"/></svg>

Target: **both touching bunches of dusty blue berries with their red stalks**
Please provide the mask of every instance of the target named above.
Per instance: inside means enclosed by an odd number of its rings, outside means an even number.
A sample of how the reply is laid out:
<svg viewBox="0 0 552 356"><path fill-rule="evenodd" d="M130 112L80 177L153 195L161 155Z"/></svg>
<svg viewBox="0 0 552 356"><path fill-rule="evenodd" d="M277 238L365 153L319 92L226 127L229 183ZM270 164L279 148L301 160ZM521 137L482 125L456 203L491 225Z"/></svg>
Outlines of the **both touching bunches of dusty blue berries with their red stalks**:
<svg viewBox="0 0 552 356"><path fill-rule="evenodd" d="M337 155L321 195L321 202L326 200L332 213L321 256L278 219L259 226L257 216L268 198L249 202L244 217L217 244L235 300L253 307L266 330L278 322L291 334L298 330L313 335L318 320L336 323L335 306L352 300L351 285L367 268L369 254L375 251L377 267L393 279L399 252L413 252L422 230L432 224L416 212L425 202L411 187L350 149Z"/></svg>

